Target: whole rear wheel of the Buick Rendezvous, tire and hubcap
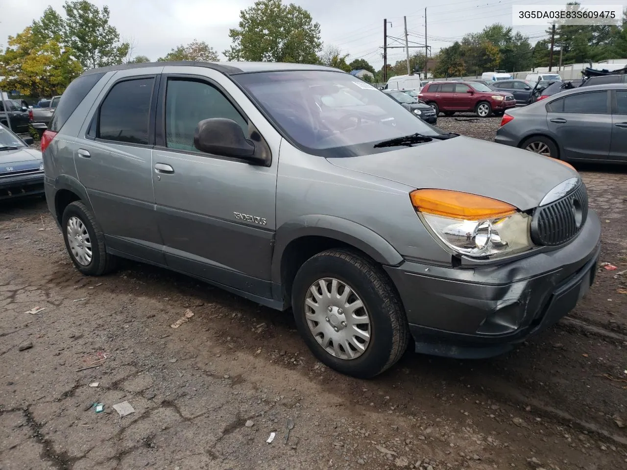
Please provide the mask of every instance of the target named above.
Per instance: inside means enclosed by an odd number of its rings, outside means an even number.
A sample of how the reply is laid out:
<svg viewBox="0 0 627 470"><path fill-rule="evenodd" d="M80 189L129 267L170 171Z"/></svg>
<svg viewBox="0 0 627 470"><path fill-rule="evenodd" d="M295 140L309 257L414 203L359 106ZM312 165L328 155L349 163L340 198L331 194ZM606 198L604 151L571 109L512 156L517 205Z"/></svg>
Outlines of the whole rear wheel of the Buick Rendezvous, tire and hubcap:
<svg viewBox="0 0 627 470"><path fill-rule="evenodd" d="M105 237L87 206L80 201L65 207L61 217L65 248L76 269L89 276L102 276L115 269L116 258L105 250Z"/></svg>

